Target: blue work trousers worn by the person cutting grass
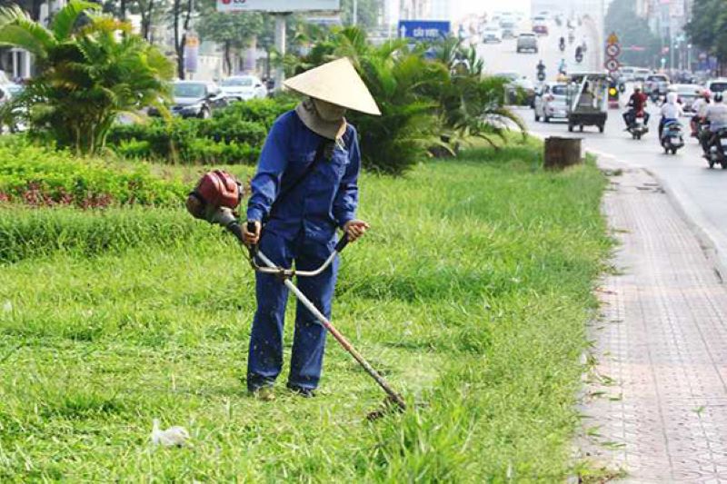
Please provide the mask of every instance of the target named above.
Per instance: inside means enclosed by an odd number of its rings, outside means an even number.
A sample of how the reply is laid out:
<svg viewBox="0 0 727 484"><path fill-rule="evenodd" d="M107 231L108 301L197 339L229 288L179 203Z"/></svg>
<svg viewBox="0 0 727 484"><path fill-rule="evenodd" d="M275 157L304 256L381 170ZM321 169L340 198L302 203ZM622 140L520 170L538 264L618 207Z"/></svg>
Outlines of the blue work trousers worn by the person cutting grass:
<svg viewBox="0 0 727 484"><path fill-rule="evenodd" d="M301 232L289 241L274 232L263 232L260 251L276 265L286 269L295 262L298 271L317 269L334 250L335 241L306 239ZM315 307L331 317L338 260L315 277L299 277L296 284ZM272 385L283 368L283 328L288 288L277 276L256 274L257 311L250 336L247 360L247 389L254 391ZM324 360L325 328L305 306L295 307L293 354L288 386L313 390L321 378Z"/></svg>

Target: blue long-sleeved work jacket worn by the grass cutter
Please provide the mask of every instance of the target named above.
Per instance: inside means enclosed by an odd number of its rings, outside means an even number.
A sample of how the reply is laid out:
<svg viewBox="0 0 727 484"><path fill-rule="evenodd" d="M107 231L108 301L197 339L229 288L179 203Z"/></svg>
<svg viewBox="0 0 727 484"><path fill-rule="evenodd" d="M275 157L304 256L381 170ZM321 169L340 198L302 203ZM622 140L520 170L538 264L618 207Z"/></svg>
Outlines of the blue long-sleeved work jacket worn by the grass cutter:
<svg viewBox="0 0 727 484"><path fill-rule="evenodd" d="M263 221L265 231L293 240L304 232L306 238L330 242L336 226L355 218L358 205L358 173L361 153L354 126L348 124L344 147L336 145L333 155L318 163L303 183L271 207L281 191L292 186L314 163L315 153L325 138L314 133L295 111L280 116L273 124L260 153L247 203L247 219Z"/></svg>

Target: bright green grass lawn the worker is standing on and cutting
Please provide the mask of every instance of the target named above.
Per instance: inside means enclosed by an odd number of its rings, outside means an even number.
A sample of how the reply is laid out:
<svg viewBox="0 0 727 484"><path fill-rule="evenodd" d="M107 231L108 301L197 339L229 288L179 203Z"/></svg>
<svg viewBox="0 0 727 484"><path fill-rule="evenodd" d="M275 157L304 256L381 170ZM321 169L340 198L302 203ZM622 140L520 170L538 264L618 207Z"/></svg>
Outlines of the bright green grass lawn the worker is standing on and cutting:
<svg viewBox="0 0 727 484"><path fill-rule="evenodd" d="M411 403L374 423L383 393L332 338L316 398L245 394L254 275L218 229L0 210L0 481L562 480L610 240L602 174L535 153L363 176L334 324ZM153 449L155 417L194 447Z"/></svg>

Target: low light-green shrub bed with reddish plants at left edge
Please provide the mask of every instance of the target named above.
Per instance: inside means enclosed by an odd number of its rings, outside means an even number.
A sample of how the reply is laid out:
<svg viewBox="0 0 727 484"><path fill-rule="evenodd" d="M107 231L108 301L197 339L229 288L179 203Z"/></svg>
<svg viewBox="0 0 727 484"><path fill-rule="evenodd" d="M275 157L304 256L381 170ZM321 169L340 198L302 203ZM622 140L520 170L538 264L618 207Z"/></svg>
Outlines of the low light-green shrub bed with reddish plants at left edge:
<svg viewBox="0 0 727 484"><path fill-rule="evenodd" d="M187 190L182 183L155 177L144 165L120 172L97 159L76 158L22 139L0 143L0 202L82 208L176 205Z"/></svg>

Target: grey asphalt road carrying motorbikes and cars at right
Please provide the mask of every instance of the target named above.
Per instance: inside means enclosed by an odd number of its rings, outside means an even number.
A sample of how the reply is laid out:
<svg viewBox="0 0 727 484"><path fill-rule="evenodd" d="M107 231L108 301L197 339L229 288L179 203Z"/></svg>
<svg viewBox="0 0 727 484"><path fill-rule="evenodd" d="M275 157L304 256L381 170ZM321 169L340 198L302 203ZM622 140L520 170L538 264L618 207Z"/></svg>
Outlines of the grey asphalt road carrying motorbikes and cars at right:
<svg viewBox="0 0 727 484"><path fill-rule="evenodd" d="M550 80L563 57L558 49L558 37L565 33L564 29L557 30L553 27L551 35L541 37L538 54L516 54L514 40L504 41L503 44L480 44L478 53L484 59L488 72L494 74L516 71L533 81L535 65L539 59L543 59ZM586 58L582 65L576 66L573 61L574 46L569 46L566 49L566 60L570 61L569 69L596 68L591 37L583 31L576 31L575 43L582 40L584 35L589 46ZM624 97L622 104L625 103ZM655 106L650 107L652 132L640 141L632 140L631 135L623 131L623 108L610 110L603 134L598 133L595 127L586 127L583 133L568 133L565 123L535 123L532 110L517 108L517 111L533 133L542 136L580 137L583 139L584 148L593 153L610 156L626 166L646 168L663 184L682 212L701 230L702 235L706 235L714 244L720 255L722 268L727 268L727 170L709 169L693 138L687 139L687 145L676 155L664 154L656 135L659 119L657 109ZM688 133L689 118L684 118L682 124ZM722 202L722 198L725 198L725 202Z"/></svg>

